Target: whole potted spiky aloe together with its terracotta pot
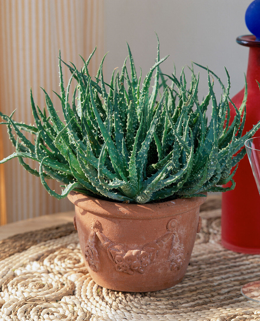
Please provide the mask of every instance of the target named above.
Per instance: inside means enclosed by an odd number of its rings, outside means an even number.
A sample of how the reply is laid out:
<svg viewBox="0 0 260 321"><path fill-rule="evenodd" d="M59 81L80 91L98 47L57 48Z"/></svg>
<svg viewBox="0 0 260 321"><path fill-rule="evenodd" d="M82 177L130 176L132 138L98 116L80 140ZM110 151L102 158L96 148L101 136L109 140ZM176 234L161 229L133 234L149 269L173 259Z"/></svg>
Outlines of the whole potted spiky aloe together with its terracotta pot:
<svg viewBox="0 0 260 321"><path fill-rule="evenodd" d="M241 107L233 106L236 117L230 124L228 73L225 89L208 70L209 92L202 102L193 68L189 88L183 70L179 80L175 74L162 74L160 65L167 56L160 59L159 41L156 63L142 85L129 47L131 72L125 61L110 83L103 78L104 58L91 79L93 53L81 70L65 63L72 73L66 89L59 60L57 95L64 120L45 90L47 112L35 105L31 94L35 126L1 114L15 146L1 163L17 157L40 177L49 194L75 204L75 227L95 282L118 291L164 289L186 272L206 192L223 191L221 185L229 181L234 187L232 168L245 154L237 152L260 123L242 136L245 90ZM211 74L223 90L219 102ZM69 97L73 78L77 85ZM29 167L26 158L39 162L39 170ZM62 182L62 193L52 191L46 178Z"/></svg>

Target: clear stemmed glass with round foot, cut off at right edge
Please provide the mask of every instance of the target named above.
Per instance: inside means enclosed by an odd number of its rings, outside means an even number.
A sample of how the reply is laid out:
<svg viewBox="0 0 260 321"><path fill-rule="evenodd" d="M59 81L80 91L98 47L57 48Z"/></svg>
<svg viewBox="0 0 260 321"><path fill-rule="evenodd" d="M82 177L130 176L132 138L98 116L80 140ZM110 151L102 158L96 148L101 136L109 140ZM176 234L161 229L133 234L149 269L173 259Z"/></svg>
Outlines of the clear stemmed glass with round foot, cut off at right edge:
<svg viewBox="0 0 260 321"><path fill-rule="evenodd" d="M247 156L260 194L260 137L245 141ZM259 209L260 211L260 209ZM260 215L260 213L259 213ZM259 229L260 237L260 229ZM250 300L260 302L260 281L249 282L242 286L241 293Z"/></svg>

